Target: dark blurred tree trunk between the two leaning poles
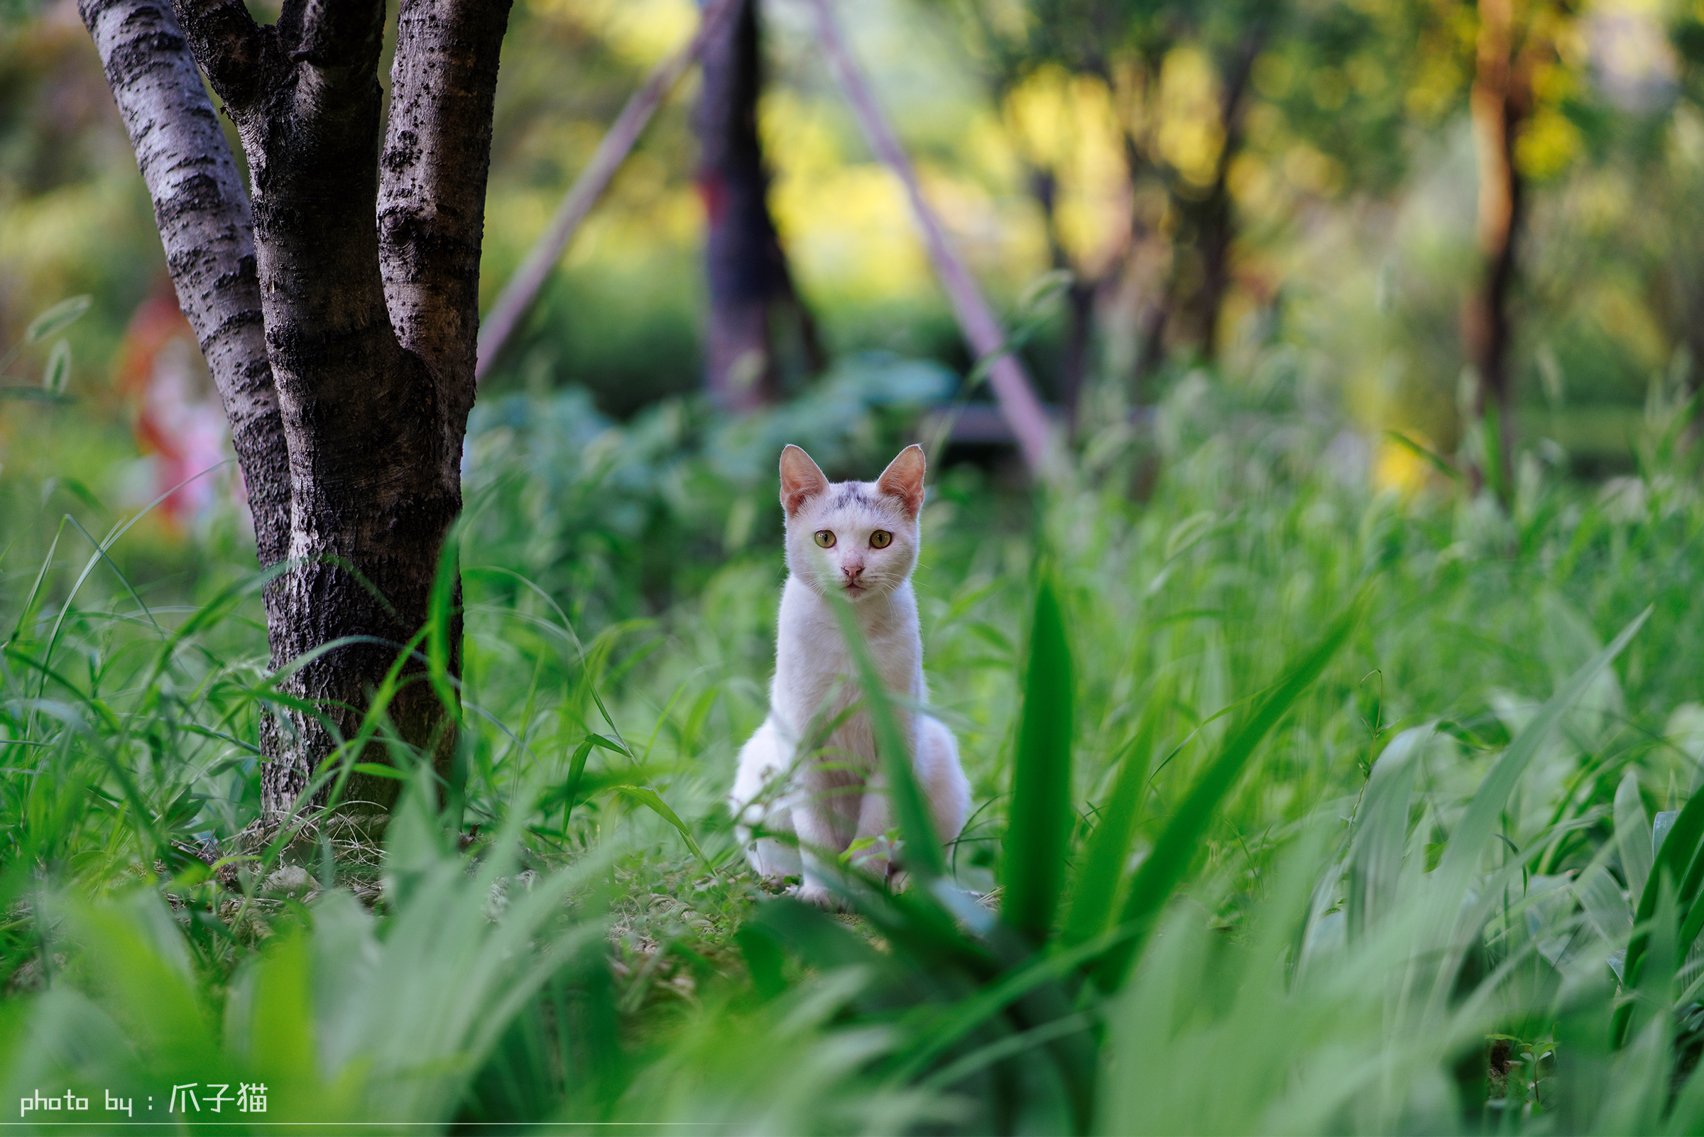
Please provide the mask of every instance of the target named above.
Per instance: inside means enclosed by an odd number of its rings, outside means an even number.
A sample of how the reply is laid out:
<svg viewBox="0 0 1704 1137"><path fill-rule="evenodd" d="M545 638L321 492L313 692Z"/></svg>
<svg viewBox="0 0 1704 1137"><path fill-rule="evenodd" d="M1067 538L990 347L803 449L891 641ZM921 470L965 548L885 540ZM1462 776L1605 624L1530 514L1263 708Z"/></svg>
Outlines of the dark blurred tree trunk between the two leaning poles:
<svg viewBox="0 0 1704 1137"><path fill-rule="evenodd" d="M757 0L704 43L699 95L699 193L709 220L711 312L705 387L733 411L774 402L787 370L821 368L821 348L799 303L769 211L769 169L757 133L763 49ZM792 348L792 366L786 366Z"/></svg>

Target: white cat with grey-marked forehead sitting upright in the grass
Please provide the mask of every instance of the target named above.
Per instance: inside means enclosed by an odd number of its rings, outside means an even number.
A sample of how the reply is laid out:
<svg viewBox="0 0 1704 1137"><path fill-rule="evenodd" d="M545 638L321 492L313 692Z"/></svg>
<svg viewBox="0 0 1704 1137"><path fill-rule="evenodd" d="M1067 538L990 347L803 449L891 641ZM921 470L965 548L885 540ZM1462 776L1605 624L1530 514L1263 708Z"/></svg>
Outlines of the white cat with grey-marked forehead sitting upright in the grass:
<svg viewBox="0 0 1704 1137"><path fill-rule="evenodd" d="M852 602L881 682L900 695L895 714L915 755L912 769L929 801L934 837L956 839L970 808L970 782L953 731L912 709L929 697L912 595L924 465L922 447L907 447L872 482L830 482L799 447L780 452L787 585L775 634L775 682L769 718L740 752L729 806L751 866L767 878L803 876L799 897L825 907L835 902L820 857L869 839L854 864L886 876L891 849L884 834L893 828L869 714L845 714L862 690L826 593ZM797 760L801 745L806 752ZM796 834L797 847L774 839L753 842L753 827Z"/></svg>

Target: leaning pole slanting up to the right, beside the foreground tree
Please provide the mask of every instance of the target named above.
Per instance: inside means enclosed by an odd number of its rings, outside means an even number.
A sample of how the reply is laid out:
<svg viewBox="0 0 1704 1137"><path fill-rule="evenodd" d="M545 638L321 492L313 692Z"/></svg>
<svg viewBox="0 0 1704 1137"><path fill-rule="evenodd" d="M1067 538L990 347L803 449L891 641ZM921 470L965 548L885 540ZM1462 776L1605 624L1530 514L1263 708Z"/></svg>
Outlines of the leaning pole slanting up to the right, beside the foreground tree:
<svg viewBox="0 0 1704 1137"><path fill-rule="evenodd" d="M557 261L562 259L562 251L574 239L574 230L579 228L586 215L591 213L591 206L608 189L615 170L620 169L634 143L639 141L639 135L644 133L646 124L663 104L663 99L668 97L668 92L675 89L680 77L704 51L705 41L738 9L738 0L714 0L707 3L704 7L704 19L699 20L699 31L692 36L692 41L658 63L651 70L651 75L646 77L644 85L627 99L627 106L622 107L610 131L598 143L591 160L586 162L586 169L579 170L579 177L574 179L567 194L562 196L562 205L556 206L556 216L550 218L550 225L533 244L532 251L528 251L521 266L515 269L509 283L498 293L498 302L491 305L491 312L479 322L479 363L474 366L475 382L486 377L486 372L491 370L491 365L503 353L504 344L508 344L527 319L533 302L538 298L538 291L550 280Z"/></svg>

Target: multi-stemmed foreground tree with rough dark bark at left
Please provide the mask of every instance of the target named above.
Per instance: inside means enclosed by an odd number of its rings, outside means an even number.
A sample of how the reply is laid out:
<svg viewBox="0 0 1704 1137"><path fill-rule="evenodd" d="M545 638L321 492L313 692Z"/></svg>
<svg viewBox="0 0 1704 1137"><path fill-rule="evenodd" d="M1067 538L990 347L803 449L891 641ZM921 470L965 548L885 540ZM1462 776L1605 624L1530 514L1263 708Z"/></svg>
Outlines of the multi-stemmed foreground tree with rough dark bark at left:
<svg viewBox="0 0 1704 1137"><path fill-rule="evenodd" d="M426 622L462 506L508 9L402 2L380 152L382 0L286 0L269 27L235 0L176 0L176 19L150 0L82 5L179 298L198 332L210 329L203 344L213 344L233 435L252 435L237 442L250 494L288 503L283 540L276 518L256 513L257 532L268 528L261 561L288 557L268 595L268 636L274 667L300 663L281 690L322 714L290 713L262 730L273 817L298 805L339 738L353 736ZM237 124L249 203L196 63ZM227 326L230 349L218 341ZM458 626L448 641L455 651ZM404 665L389 714L448 774L453 718L423 672L417 658ZM382 760L383 748L360 757ZM395 786L356 774L344 798L389 806ZM324 799L320 788L312 803Z"/></svg>

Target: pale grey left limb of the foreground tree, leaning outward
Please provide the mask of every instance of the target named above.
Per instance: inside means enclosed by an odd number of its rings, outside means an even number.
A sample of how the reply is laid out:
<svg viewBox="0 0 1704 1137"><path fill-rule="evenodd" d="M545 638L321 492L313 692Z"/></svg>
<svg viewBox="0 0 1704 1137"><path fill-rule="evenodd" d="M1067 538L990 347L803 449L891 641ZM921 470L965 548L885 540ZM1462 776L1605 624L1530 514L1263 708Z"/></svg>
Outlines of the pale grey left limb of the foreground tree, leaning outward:
<svg viewBox="0 0 1704 1137"><path fill-rule="evenodd" d="M237 164L167 5L83 0L80 12L153 199L177 303L225 404L261 566L276 564L290 551L290 457Z"/></svg>

